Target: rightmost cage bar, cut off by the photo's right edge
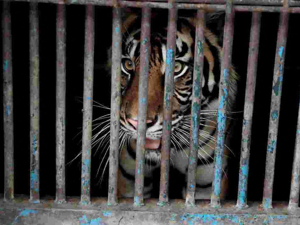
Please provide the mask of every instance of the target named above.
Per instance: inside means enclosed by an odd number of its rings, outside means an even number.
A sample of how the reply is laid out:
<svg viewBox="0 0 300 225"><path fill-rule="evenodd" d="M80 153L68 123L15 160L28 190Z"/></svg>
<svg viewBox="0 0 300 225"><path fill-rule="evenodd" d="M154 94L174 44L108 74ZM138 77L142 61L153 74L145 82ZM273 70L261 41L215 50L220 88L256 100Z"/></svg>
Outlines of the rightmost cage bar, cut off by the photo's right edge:
<svg viewBox="0 0 300 225"><path fill-rule="evenodd" d="M291 191L289 195L289 206L288 206L289 210L295 210L299 208L299 190L300 190L299 173L300 173L300 102L299 102L299 110L298 110L298 123L297 123L297 130L296 130Z"/></svg>

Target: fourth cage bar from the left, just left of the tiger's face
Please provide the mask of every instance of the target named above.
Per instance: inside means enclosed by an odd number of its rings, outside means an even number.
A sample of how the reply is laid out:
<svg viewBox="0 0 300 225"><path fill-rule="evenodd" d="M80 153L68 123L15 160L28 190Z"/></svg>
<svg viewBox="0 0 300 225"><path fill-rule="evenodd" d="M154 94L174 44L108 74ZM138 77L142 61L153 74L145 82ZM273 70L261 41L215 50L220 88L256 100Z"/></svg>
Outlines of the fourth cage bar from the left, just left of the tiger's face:
<svg viewBox="0 0 300 225"><path fill-rule="evenodd" d="M83 77L81 197L82 205L90 204L91 196L91 136L94 78L94 6L86 5Z"/></svg>

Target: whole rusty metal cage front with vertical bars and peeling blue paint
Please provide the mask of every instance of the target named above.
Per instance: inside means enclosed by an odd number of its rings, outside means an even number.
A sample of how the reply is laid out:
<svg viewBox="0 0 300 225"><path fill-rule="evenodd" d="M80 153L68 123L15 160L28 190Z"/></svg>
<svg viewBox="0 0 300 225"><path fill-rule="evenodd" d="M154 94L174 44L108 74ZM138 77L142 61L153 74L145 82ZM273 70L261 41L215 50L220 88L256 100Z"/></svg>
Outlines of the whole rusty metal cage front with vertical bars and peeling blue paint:
<svg viewBox="0 0 300 225"><path fill-rule="evenodd" d="M39 32L38 2L57 4L56 17L56 199L49 201L39 196ZM123 0L38 0L30 1L30 199L19 202L14 199L13 164L13 82L10 1L3 1L3 107L4 107L4 199L0 200L0 224L299 224L300 210L300 111L295 141L292 169L292 184L288 207L272 207L272 189L276 141L286 51L288 18L290 13L300 13L300 2L296 0L191 0L191 1L123 1ZM80 202L65 195L65 93L66 93L66 22L65 4L85 4L85 51L84 93L82 124L82 173ZM113 7L112 86L111 86L111 136L109 161L108 199L91 201L91 132L94 68L94 5ZM137 129L137 158L134 199L117 201L117 171L119 155L119 108L121 75L121 8L142 8L141 54L142 74L139 81L139 114ZM167 61L164 92L164 127L162 137L161 181L158 202L147 202L143 197L144 154L146 136L146 102L149 69L149 38L151 8L169 10ZM196 162L190 160L188 167L187 197L185 204L169 203L170 132L173 96L173 74L175 62L175 36L177 9L197 9L197 26L194 72L192 118L199 121L201 99L200 82L203 70L204 16L205 11L225 11L223 58L220 74L219 108L217 112L217 145L214 156L213 193L210 203L195 204ZM242 127L241 158L237 202L221 204L220 181L226 127L226 101L231 65L233 22L235 11L251 11L252 25L248 56L247 82L245 91L244 120ZM273 88L269 119L267 158L262 205L247 205L247 180L250 153L255 92L256 68L259 46L260 18L262 12L280 12L280 24L274 64ZM300 109L299 109L300 110ZM199 122L192 122L192 131L199 129ZM198 132L191 132L189 158L196 157ZM74 202L76 204L74 204ZM49 206L49 204L51 206Z"/></svg>

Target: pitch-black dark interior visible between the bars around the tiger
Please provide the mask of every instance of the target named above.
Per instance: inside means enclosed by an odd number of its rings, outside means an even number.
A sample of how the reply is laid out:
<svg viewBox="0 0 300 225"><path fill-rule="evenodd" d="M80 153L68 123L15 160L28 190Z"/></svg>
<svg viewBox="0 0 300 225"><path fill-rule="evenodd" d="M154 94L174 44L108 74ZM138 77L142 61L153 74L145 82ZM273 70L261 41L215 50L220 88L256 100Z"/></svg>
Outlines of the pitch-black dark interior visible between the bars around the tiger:
<svg viewBox="0 0 300 225"><path fill-rule="evenodd" d="M83 53L85 7L68 5L67 15L67 111L66 111L66 162L70 162L81 150ZM2 11L2 6L1 6ZM13 48L13 122L15 193L29 195L29 4L12 2L12 48ZM107 49L111 44L112 10L95 7L95 61L94 101L110 106L110 76L104 69ZM179 13L182 11L179 10ZM193 12L193 11L191 11ZM39 4L40 33L40 194L55 196L55 44L56 5ZM167 19L167 11L162 10ZM182 12L186 14L185 12ZM220 17L222 19L222 17ZM262 13L257 67L256 93L253 115L249 200L261 200L267 148L270 98L276 49L279 13ZM288 200L295 145L295 131L299 105L300 62L298 44L298 22L300 15L290 15L289 31L284 65L277 155L273 200ZM243 110L244 88L247 74L247 58L251 13L235 14L232 62L240 75L236 111ZM155 26L155 24L152 24ZM2 36L1 36L2 38ZM2 41L2 40L1 40ZM2 56L2 50L0 51ZM1 73L2 80L2 73ZM0 87L2 93L2 85ZM3 102L0 99L3 112ZM108 113L97 107L93 118ZM243 113L232 119L236 125L229 134L231 149L229 158L229 198L236 199L238 187L239 152L241 145L241 123ZM0 116L0 146L3 146L3 116ZM78 134L78 135L77 135ZM77 136L76 136L77 135ZM99 184L96 176L103 155L101 151L92 157L91 195L107 195L107 179ZM0 165L4 165L3 147L0 147ZM66 167L66 194L80 196L81 157ZM108 167L106 170L106 176ZM172 181L171 181L172 183ZM170 186L172 187L172 186ZM0 193L4 192L4 168L0 167Z"/></svg>

